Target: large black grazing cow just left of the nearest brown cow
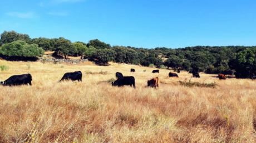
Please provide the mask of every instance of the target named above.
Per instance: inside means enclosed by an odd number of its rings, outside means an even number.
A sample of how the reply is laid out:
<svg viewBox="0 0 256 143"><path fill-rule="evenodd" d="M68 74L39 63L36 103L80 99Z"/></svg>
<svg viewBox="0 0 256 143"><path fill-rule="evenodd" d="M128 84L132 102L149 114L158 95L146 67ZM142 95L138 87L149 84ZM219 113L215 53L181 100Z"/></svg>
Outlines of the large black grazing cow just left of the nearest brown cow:
<svg viewBox="0 0 256 143"><path fill-rule="evenodd" d="M112 86L124 86L124 85L130 85L135 88L134 76L124 76L123 78L117 79L116 81L112 82Z"/></svg>

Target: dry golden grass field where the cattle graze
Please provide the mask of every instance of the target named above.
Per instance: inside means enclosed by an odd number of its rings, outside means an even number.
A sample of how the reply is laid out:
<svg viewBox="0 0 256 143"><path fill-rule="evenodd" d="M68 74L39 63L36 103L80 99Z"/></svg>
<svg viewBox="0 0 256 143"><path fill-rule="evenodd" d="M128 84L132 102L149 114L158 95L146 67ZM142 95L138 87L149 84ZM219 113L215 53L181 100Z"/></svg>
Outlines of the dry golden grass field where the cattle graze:
<svg viewBox="0 0 256 143"><path fill-rule="evenodd" d="M256 81L219 80L213 75L111 63L99 67L39 62L6 62L0 80L32 74L32 86L0 86L0 142L255 142ZM135 68L135 73L130 73ZM58 83L81 70L82 83ZM136 89L112 87L115 72L132 75ZM158 89L146 81L159 76ZM213 83L186 87L179 80Z"/></svg>

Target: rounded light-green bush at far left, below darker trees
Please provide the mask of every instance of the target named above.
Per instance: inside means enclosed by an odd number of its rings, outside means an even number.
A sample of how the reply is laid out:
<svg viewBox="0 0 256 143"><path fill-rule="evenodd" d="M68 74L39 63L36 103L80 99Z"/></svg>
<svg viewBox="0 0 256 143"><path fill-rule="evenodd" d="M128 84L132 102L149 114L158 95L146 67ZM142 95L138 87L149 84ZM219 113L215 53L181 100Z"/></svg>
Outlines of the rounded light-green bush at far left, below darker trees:
<svg viewBox="0 0 256 143"><path fill-rule="evenodd" d="M27 44L22 40L4 44L0 49L0 54L17 57L40 57L45 51L37 44Z"/></svg>

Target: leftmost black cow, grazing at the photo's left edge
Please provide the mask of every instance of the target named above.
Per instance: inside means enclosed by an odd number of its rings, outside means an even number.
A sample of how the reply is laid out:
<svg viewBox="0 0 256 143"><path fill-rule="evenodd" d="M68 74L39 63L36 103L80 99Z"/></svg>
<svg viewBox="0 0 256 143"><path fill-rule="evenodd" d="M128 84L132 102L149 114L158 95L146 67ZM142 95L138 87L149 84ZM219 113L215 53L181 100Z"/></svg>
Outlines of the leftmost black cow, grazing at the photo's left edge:
<svg viewBox="0 0 256 143"><path fill-rule="evenodd" d="M22 75L13 75L11 77L9 77L7 80L1 81L1 85L8 85L8 86L12 86L12 85L32 85L31 84L32 81L32 76L31 74L22 74Z"/></svg>

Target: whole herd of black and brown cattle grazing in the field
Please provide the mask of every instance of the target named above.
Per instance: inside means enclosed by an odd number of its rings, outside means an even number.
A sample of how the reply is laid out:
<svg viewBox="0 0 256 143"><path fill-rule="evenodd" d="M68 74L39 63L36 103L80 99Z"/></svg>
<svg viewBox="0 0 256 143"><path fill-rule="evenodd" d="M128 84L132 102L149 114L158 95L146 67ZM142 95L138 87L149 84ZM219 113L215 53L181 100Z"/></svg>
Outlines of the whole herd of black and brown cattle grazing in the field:
<svg viewBox="0 0 256 143"><path fill-rule="evenodd" d="M135 72L135 69L131 69L130 72ZM159 70L152 70L152 73L159 73ZM198 72L190 72L192 73L193 77L200 78L200 75ZM179 77L176 73L169 73L169 77ZM226 79L224 74L218 75L219 79ZM73 73L65 73L60 81L63 80L72 80L72 81L82 81L82 72L73 72ZM22 74L22 75L13 75L9 77L7 80L1 81L1 85L32 85L32 76L31 74ZM135 88L135 78L134 76L124 76L122 73L117 72L116 73L116 80L112 82L112 86L124 86L124 85L130 85ZM159 86L159 78L152 78L150 80L147 80L147 86L156 88Z"/></svg>

